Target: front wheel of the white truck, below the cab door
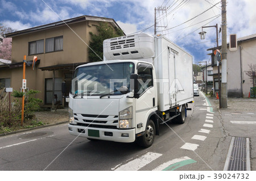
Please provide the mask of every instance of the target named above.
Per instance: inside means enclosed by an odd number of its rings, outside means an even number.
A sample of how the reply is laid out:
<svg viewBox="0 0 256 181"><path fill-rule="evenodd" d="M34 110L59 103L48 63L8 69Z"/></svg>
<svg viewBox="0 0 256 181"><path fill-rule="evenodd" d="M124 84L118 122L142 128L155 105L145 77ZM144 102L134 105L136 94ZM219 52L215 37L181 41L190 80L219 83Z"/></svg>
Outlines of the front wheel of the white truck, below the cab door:
<svg viewBox="0 0 256 181"><path fill-rule="evenodd" d="M137 143L144 148L150 147L155 140L155 124L151 119L148 120L145 133L137 138Z"/></svg>

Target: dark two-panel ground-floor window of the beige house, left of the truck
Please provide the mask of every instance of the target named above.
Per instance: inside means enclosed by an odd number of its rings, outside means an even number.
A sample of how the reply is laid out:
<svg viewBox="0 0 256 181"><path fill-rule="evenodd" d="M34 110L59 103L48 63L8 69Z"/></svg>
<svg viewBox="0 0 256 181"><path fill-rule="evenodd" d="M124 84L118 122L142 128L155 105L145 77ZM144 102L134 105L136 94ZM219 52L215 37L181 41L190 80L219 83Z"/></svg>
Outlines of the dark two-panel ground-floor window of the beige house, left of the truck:
<svg viewBox="0 0 256 181"><path fill-rule="evenodd" d="M54 82L54 104L62 104L62 78L55 78ZM44 104L52 104L52 78L46 78L45 85Z"/></svg>

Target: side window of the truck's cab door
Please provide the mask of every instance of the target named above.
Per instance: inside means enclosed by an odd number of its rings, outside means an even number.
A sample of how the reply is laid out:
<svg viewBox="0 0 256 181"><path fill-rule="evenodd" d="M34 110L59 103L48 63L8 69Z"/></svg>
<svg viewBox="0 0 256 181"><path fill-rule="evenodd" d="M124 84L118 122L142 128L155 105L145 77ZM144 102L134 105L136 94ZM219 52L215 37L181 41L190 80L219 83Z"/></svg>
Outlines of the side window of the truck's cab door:
<svg viewBox="0 0 256 181"><path fill-rule="evenodd" d="M153 86L153 74L151 65L138 65L139 94L143 94Z"/></svg>

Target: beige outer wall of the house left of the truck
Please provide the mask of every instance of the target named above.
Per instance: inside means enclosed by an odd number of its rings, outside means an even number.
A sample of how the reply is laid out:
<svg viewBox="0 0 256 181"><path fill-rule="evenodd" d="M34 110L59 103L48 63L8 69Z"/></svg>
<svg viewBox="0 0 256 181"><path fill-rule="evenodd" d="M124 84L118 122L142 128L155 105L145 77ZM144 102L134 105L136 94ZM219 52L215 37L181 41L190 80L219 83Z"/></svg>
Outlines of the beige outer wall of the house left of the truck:
<svg viewBox="0 0 256 181"><path fill-rule="evenodd" d="M27 56L27 61L33 60L34 56L37 56L38 60L40 60L40 64L36 65L34 71L32 71L31 66L26 68L27 87L41 91L41 93L37 95L37 98L44 100L45 79L53 77L52 71L42 71L38 68L87 62L88 45L90 41L89 32L97 34L95 25L99 23L100 22L93 21L89 23L79 22L69 24L70 28L68 26L60 26L13 37L12 63L15 63L22 62L23 56L28 54L28 42L43 39L45 52L45 42L47 38L63 36L63 51ZM19 90L22 86L22 73L22 68L0 69L0 78L11 78L11 87L13 87L14 90ZM62 78L64 81L64 71L55 71L55 78Z"/></svg>

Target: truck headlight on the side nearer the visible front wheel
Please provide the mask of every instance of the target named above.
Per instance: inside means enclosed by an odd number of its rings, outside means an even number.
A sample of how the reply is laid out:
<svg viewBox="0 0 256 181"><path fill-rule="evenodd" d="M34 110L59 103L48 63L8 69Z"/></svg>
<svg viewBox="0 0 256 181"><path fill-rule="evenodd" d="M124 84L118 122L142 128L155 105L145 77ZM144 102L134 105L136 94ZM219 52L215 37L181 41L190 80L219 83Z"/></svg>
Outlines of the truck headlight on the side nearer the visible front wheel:
<svg viewBox="0 0 256 181"><path fill-rule="evenodd" d="M119 112L119 128L133 128L133 106Z"/></svg>

